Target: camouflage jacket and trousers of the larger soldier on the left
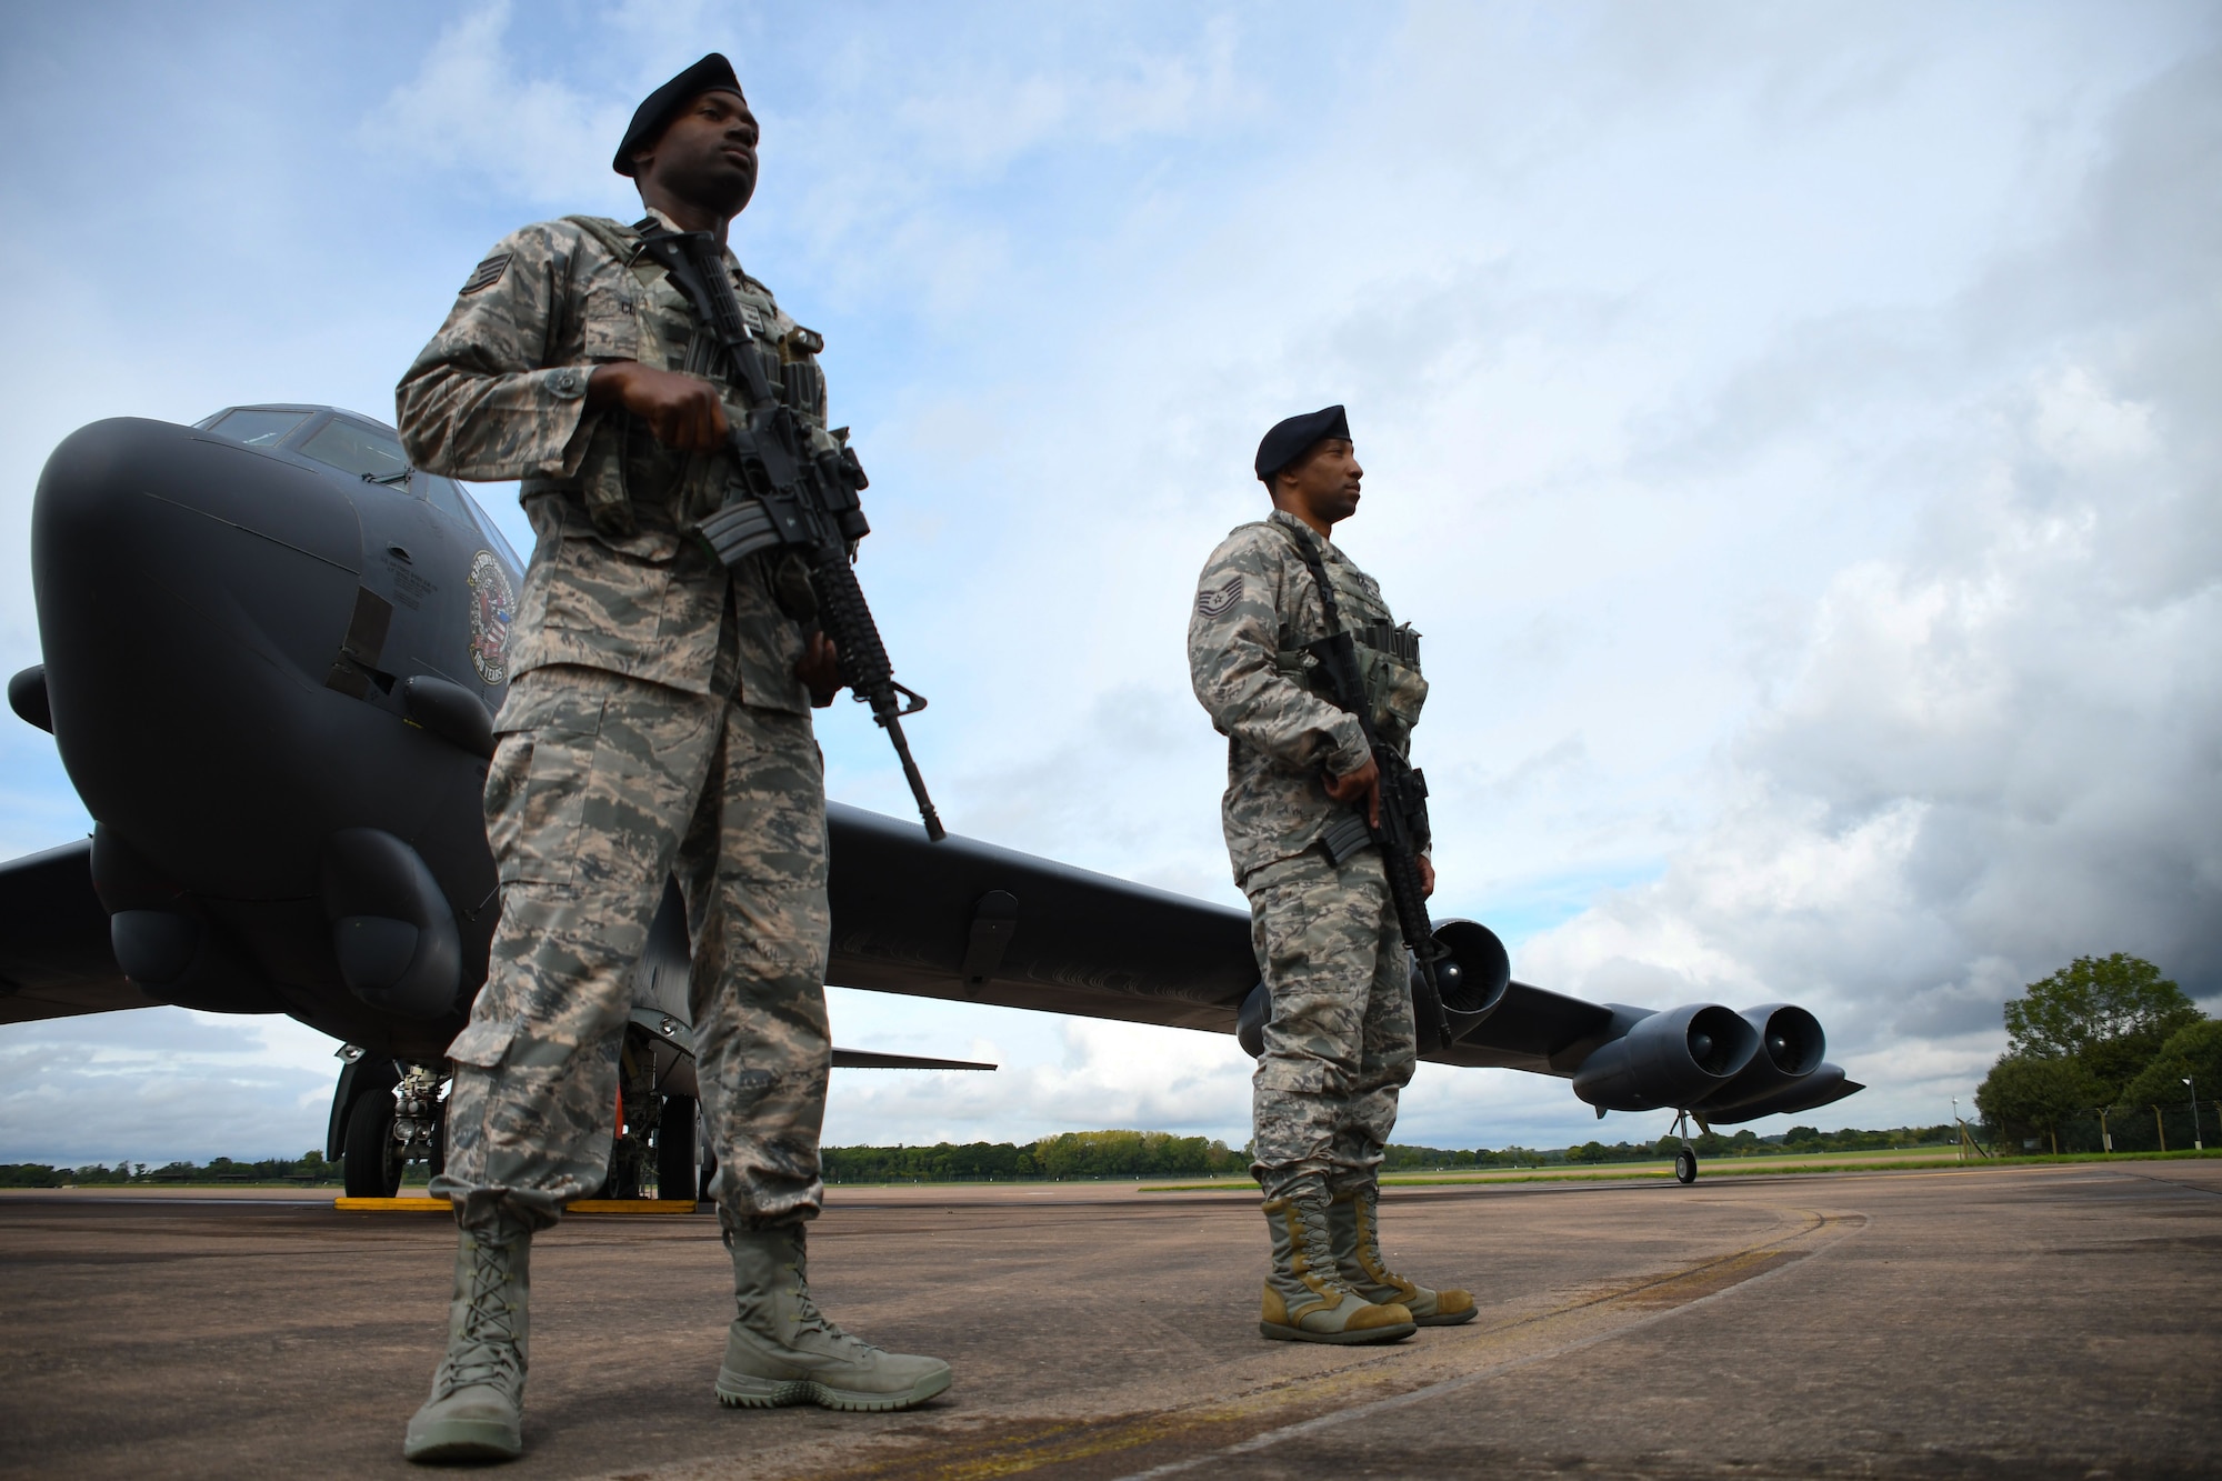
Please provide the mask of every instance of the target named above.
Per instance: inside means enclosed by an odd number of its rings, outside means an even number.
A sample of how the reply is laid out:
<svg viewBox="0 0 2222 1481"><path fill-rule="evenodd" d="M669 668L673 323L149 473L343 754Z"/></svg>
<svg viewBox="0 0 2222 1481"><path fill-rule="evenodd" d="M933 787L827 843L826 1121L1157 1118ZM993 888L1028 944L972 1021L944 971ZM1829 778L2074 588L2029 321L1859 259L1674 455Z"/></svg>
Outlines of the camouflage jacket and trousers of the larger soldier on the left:
<svg viewBox="0 0 2222 1481"><path fill-rule="evenodd" d="M667 227L673 222L664 222ZM615 222L504 238L398 389L409 456L522 478L540 536L518 600L516 680L487 774L502 921L449 1047L447 1172L467 1225L553 1223L609 1165L631 970L664 876L687 898L702 1116L731 1227L811 1219L831 1041L824 783L798 569L731 574L689 538L733 476L658 443L587 376L640 360L711 378L711 340ZM767 374L822 434L822 340L727 258ZM789 598L791 603L793 598Z"/></svg>

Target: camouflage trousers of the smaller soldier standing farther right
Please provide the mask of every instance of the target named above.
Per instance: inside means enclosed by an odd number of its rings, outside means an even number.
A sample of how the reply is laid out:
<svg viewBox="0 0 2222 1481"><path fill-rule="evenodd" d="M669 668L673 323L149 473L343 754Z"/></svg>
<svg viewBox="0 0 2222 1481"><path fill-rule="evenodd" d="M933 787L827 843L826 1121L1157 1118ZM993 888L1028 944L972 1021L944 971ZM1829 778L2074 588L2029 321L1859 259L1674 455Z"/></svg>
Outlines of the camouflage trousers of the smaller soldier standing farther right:
<svg viewBox="0 0 2222 1481"><path fill-rule="evenodd" d="M1380 852L1324 849L1253 869L1251 945L1273 998L1251 1076L1251 1176L1267 1199L1307 1176L1371 1183L1418 1043L1411 972Z"/></svg>

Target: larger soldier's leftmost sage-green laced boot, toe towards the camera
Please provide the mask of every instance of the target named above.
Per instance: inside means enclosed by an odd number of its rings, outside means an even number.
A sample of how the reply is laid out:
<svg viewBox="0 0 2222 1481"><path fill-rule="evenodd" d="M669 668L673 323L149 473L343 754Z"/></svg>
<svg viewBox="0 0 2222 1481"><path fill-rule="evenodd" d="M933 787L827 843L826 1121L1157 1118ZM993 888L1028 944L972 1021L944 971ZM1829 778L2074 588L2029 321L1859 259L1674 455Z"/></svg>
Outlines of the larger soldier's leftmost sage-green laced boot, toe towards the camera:
<svg viewBox="0 0 2222 1481"><path fill-rule="evenodd" d="M411 1461L507 1461L524 1450L531 1254L524 1223L460 1232L447 1356L402 1439Z"/></svg>

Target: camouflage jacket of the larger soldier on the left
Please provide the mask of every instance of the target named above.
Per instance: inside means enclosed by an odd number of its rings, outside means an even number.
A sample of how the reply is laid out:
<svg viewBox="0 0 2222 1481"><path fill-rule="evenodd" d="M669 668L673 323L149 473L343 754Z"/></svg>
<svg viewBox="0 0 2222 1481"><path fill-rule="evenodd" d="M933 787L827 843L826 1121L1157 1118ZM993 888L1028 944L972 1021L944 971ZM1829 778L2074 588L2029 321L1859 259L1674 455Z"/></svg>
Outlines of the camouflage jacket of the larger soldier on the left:
<svg viewBox="0 0 2222 1481"><path fill-rule="evenodd" d="M664 225L673 225L664 220ZM631 674L689 694L807 712L802 627L775 589L793 571L758 556L727 574L689 538L733 478L731 456L664 447L627 411L587 411L595 365L640 360L709 378L727 416L742 394L711 367L713 340L662 267L618 222L564 218L496 242L440 334L396 389L402 443L449 478L520 478L538 545L518 598L518 674L551 663ZM618 249L627 249L620 256ZM824 427L824 347L727 254L767 371Z"/></svg>

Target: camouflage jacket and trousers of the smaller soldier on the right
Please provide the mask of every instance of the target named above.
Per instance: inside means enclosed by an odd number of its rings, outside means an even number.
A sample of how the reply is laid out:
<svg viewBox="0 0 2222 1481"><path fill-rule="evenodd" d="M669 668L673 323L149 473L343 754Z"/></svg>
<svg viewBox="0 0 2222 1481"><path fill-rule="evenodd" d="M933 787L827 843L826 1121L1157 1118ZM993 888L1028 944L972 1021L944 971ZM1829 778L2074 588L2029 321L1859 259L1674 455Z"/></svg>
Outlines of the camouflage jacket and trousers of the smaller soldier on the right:
<svg viewBox="0 0 2222 1481"><path fill-rule="evenodd" d="M1251 1172L1269 1199L1309 1176L1329 1192L1371 1183L1415 1061L1380 852L1333 863L1322 843L1351 814L1327 796L1322 772L1355 772L1369 754L1358 718L1320 696L1302 652L1327 636L1327 618L1295 540L1320 547L1347 627L1391 625L1373 578L1282 509L1211 551L1189 616L1189 678L1227 736L1227 852L1273 998L1251 1081ZM1375 729L1402 752L1427 680L1404 669L1387 696Z"/></svg>

